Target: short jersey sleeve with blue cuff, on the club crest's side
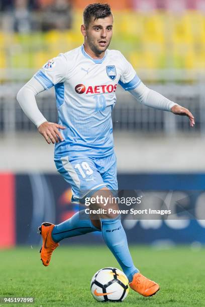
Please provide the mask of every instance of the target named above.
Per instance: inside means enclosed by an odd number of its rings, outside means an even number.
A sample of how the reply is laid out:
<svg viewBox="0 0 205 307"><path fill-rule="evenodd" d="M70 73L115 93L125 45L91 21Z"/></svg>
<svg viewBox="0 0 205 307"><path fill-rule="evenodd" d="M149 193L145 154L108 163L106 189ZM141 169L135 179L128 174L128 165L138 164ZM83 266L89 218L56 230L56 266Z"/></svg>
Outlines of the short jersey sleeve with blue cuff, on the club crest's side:
<svg viewBox="0 0 205 307"><path fill-rule="evenodd" d="M121 54L121 63L122 63L122 75L119 80L119 84L126 90L132 90L136 88L140 83L141 80L137 76L136 71L134 70L133 66L128 62L128 60Z"/></svg>

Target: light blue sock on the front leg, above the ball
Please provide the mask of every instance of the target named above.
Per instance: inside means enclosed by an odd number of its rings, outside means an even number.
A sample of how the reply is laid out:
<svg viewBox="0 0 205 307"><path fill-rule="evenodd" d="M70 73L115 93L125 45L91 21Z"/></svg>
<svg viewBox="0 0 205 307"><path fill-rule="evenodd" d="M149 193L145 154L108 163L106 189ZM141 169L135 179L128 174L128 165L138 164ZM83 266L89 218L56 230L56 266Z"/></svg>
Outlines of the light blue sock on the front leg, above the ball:
<svg viewBox="0 0 205 307"><path fill-rule="evenodd" d="M133 275L139 270L133 264L121 220L118 217L116 219L100 219L100 221L102 236L106 244L118 260L129 282L131 282Z"/></svg>

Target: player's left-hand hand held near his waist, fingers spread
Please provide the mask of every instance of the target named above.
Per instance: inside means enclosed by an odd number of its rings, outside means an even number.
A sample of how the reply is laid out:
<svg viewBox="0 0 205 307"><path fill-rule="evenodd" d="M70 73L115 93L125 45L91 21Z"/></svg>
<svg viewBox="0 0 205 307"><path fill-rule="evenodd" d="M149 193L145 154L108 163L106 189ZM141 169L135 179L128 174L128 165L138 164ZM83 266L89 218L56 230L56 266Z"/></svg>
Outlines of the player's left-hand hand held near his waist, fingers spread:
<svg viewBox="0 0 205 307"><path fill-rule="evenodd" d="M51 142L53 144L58 143L60 140L63 141L64 138L58 129L65 129L65 127L55 123L55 122L43 122L39 127L39 132L44 136L48 144Z"/></svg>

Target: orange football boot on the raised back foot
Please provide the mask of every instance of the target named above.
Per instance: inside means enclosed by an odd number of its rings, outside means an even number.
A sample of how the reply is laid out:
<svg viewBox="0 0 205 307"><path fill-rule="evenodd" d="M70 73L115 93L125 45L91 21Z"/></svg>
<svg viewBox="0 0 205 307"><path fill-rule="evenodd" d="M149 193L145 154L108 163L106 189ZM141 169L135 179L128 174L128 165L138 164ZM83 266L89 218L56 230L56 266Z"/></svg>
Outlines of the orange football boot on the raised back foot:
<svg viewBox="0 0 205 307"><path fill-rule="evenodd" d="M43 244L39 252L41 253L41 260L43 265L45 266L49 265L52 252L56 247L58 247L58 245L60 245L59 243L54 242L51 236L54 226L54 224L44 222L38 228L39 234L42 235L43 239Z"/></svg>

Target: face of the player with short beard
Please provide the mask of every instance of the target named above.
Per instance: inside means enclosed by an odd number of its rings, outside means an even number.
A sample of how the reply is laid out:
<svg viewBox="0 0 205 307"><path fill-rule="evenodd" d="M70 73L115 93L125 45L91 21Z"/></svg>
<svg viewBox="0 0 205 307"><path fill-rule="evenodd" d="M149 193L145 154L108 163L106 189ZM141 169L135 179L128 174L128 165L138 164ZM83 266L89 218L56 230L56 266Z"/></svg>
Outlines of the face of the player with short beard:
<svg viewBox="0 0 205 307"><path fill-rule="evenodd" d="M95 54L106 51L113 36L113 16L90 21L85 29L85 42Z"/></svg>

